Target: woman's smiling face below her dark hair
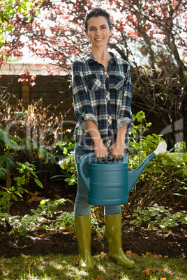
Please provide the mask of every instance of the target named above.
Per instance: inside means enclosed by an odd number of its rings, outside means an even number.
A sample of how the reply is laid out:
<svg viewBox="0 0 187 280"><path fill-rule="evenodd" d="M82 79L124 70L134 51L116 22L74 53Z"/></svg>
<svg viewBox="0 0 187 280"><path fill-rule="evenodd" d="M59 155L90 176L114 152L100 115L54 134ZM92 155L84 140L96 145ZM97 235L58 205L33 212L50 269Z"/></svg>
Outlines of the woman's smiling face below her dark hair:
<svg viewBox="0 0 187 280"><path fill-rule="evenodd" d="M103 47L107 45L109 37L112 35L112 29L109 28L105 17L91 17L88 20L88 31L86 33L92 46Z"/></svg>

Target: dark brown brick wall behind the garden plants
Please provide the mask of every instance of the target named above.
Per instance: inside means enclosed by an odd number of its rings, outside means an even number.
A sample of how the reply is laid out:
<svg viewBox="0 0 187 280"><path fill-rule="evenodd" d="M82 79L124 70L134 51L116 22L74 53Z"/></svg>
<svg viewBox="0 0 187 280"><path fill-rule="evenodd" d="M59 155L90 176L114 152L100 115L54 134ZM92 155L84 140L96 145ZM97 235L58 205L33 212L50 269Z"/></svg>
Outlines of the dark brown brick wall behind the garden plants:
<svg viewBox="0 0 187 280"><path fill-rule="evenodd" d="M12 95L15 95L16 98L22 100L24 107L27 107L28 104L32 104L32 102L37 102L40 98L43 98L43 107L48 107L50 105L49 117L53 112L56 116L62 114L62 119L64 122L63 130L73 130L77 120L73 111L70 76L37 75L35 86L29 86L29 81L18 82L18 79L20 79L19 75L1 75L1 99L4 98L4 100L6 100L6 98L9 96L8 93L10 93L11 97L8 100L10 104L16 104L16 99L12 97ZM7 88L8 93L2 93L2 89L5 90L5 88ZM140 109L137 109L135 106L133 106L133 102L132 108L133 114L135 114L137 111L140 111ZM187 110L184 113L186 115L183 120L183 126L185 130L183 139L186 141ZM160 122L160 120L158 120L154 114L149 114L147 117L147 122L153 123L150 130L151 133L160 134L160 132L165 129L165 125ZM169 130L170 129L168 128L167 131ZM177 134L180 133L183 132L180 132L180 129L177 129Z"/></svg>

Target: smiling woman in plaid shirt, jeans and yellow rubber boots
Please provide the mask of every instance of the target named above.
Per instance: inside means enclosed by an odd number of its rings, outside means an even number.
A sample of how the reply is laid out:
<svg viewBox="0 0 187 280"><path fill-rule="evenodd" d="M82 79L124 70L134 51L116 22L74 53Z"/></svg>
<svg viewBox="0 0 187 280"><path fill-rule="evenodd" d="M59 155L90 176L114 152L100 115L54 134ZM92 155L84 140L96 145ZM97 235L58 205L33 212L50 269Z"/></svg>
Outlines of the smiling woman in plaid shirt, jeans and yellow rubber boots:
<svg viewBox="0 0 187 280"><path fill-rule="evenodd" d="M93 8L87 13L84 30L91 42L91 52L73 63L73 102L78 123L74 138L75 161L85 153L96 158L121 159L128 153L128 132L133 127L131 113L130 65L107 50L112 36L112 23L106 10ZM87 164L84 173L87 173ZM93 270L91 258L91 211L87 203L87 187L77 174L75 228L80 263L84 270ZM121 246L121 205L105 207L108 256L133 268Z"/></svg>

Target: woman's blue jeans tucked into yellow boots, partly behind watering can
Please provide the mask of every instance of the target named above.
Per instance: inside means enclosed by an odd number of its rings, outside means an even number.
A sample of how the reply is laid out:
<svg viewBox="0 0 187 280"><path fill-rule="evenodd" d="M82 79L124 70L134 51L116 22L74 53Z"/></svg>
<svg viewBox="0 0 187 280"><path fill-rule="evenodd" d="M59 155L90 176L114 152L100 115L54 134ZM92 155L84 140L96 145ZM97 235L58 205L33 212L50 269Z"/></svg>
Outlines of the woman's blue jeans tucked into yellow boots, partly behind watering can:
<svg viewBox="0 0 187 280"><path fill-rule="evenodd" d="M80 160L80 157L82 155L85 155L89 153L86 150L83 150L80 146L75 144L75 162L76 165ZM88 159L90 160L90 159ZM94 157L93 157L93 160ZM88 176L88 170L87 170L87 165L88 162L85 160L84 166L83 166L83 171L84 175L87 177ZM77 172L77 196L75 199L75 215L76 216L84 216L84 215L89 215L91 213L91 206L87 202L87 197L88 197L88 189L86 185L84 184L82 178L80 177L79 173ZM104 214L105 215L117 215L121 214L121 205L115 205L115 206L105 206L104 207Z"/></svg>

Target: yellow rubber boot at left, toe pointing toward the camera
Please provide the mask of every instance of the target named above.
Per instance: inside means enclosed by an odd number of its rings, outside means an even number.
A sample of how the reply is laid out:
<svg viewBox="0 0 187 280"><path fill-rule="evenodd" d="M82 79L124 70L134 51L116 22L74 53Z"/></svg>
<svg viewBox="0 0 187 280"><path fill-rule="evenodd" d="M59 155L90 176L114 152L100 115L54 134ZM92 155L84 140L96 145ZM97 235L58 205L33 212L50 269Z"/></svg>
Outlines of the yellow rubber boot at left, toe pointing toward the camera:
<svg viewBox="0 0 187 280"><path fill-rule="evenodd" d="M79 247L79 267L83 270L93 270L91 257L91 215L75 216L75 230Z"/></svg>

